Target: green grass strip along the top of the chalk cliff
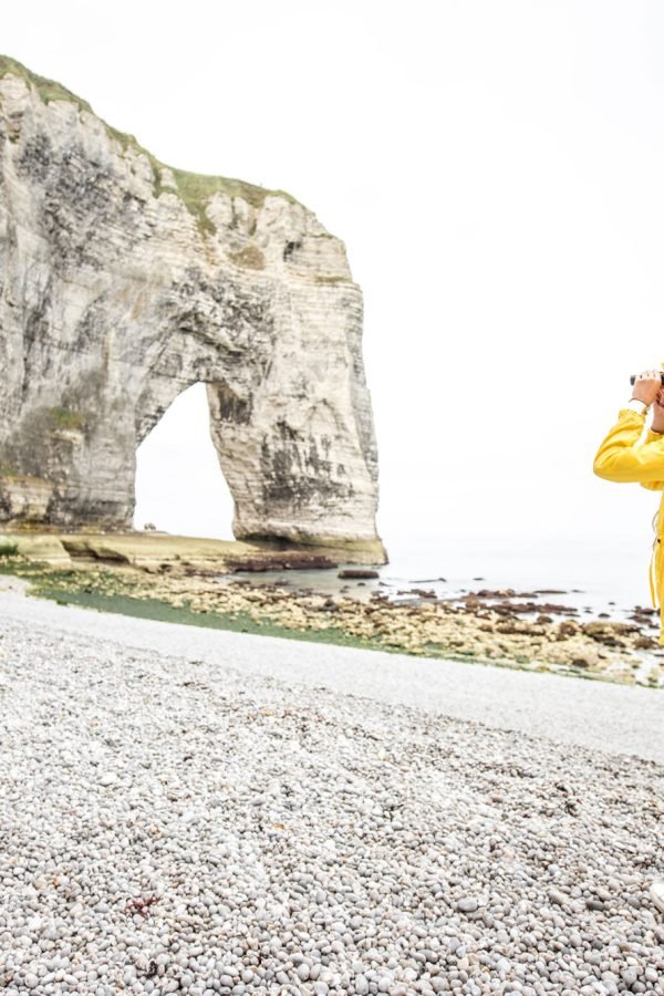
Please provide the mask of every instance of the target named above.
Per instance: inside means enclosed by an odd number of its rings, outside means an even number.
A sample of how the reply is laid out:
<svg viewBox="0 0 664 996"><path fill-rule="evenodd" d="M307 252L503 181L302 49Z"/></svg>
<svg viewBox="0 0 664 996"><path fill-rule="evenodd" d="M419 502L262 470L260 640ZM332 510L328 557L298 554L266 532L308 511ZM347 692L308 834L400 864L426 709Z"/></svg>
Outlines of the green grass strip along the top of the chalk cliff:
<svg viewBox="0 0 664 996"><path fill-rule="evenodd" d="M27 66L22 65L22 63L17 62L15 59L10 59L8 55L0 55L0 79L7 75L19 76L19 79L24 80L28 85L39 94L44 104L49 104L51 101L69 101L71 104L75 104L79 110L94 114L94 111L87 101L84 101L75 93L72 93L71 90L68 90L61 83L58 83L54 80L46 80L45 76L39 76L37 73L33 73ZM97 115L95 115L95 117ZM100 118L100 121L102 121L102 118ZM157 159L156 156L153 156L152 153L141 145L134 135L129 135L126 132L118 132L117 128L113 128L111 125L106 124L105 121L102 121L102 124L106 128L107 134L121 144L124 152L131 148L148 159L154 176L155 197L158 197L164 190L175 193L172 188L162 186L162 169L170 169L175 177L177 194L180 200L204 230L215 230L215 226L205 212L206 204L214 194L222 193L227 194L229 197L241 197L256 208L262 207L268 195L271 197L282 197L291 204L299 204L299 201L295 200L291 194L287 194L286 190L270 190L266 187L248 184L240 179L231 179L224 176L207 176L200 173L188 173L184 169L175 169L173 166L167 166L165 163Z"/></svg>

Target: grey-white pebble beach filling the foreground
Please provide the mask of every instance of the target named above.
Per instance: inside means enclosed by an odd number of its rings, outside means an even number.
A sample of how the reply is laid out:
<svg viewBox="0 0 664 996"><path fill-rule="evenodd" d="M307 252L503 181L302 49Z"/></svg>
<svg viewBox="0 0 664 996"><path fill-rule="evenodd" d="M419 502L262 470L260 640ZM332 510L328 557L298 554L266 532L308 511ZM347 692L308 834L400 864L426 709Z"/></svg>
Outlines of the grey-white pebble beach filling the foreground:
<svg viewBox="0 0 664 996"><path fill-rule="evenodd" d="M546 737L518 701L499 727L341 679L443 662L18 594L0 619L9 996L664 993L660 692L454 664L479 698L485 672L559 687Z"/></svg>

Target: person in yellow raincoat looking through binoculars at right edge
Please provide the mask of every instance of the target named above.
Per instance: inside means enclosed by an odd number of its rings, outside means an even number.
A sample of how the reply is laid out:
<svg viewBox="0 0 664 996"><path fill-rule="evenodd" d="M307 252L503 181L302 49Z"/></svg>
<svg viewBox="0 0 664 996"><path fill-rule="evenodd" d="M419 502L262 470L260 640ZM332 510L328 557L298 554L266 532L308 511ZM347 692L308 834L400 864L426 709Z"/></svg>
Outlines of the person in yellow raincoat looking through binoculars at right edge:
<svg viewBox="0 0 664 996"><path fill-rule="evenodd" d="M653 405L653 421L641 440L645 416ZM632 481L653 491L664 492L664 387L662 371L646 370L634 381L629 403L618 413L618 422L601 442L592 465L593 471L604 480L620 484ZM662 625L662 536L664 533L664 494L656 513L657 523L650 563L650 589L654 609L660 609L660 644L664 645ZM650 894L664 911L664 881L653 882Z"/></svg>

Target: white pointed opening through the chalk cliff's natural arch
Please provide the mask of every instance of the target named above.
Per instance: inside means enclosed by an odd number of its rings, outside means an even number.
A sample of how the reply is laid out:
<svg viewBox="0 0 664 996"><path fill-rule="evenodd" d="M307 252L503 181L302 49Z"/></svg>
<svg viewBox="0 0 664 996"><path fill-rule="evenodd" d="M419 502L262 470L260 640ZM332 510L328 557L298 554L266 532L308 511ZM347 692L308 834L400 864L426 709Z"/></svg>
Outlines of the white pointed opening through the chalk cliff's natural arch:
<svg viewBox="0 0 664 996"><path fill-rule="evenodd" d="M234 539L234 501L209 429L205 384L183 391L136 449L134 529Z"/></svg>

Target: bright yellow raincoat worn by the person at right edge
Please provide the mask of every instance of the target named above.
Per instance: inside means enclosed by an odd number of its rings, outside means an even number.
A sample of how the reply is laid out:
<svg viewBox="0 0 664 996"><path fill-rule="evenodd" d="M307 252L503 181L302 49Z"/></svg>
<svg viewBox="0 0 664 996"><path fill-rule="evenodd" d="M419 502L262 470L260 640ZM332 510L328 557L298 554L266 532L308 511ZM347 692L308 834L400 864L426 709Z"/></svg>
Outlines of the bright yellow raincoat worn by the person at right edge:
<svg viewBox="0 0 664 996"><path fill-rule="evenodd" d="M645 438L640 443L644 424L645 415L640 415L632 408L620 409L618 422L600 444L592 465L598 477L619 483L632 481L651 491L664 491L664 433L654 433L649 429ZM656 517L649 580L653 609L661 609L664 581L662 578L664 558L661 554L664 533L664 494ZM664 621L658 642L664 646Z"/></svg>

